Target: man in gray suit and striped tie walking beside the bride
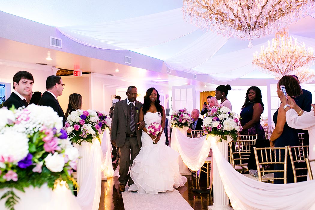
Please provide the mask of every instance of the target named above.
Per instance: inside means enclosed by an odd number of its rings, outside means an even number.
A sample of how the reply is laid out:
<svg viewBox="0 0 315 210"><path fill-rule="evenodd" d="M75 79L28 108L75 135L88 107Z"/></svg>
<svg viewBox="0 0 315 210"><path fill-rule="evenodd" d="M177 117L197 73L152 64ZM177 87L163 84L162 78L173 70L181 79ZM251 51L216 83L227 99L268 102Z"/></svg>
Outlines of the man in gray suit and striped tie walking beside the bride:
<svg viewBox="0 0 315 210"><path fill-rule="evenodd" d="M139 110L142 103L136 101L137 88L130 86L126 92L127 99L115 104L112 118L112 143L119 147L119 191L125 191L125 185L134 184L131 179L129 167L138 155L141 148L141 134L145 122L139 122ZM131 158L130 158L131 156Z"/></svg>

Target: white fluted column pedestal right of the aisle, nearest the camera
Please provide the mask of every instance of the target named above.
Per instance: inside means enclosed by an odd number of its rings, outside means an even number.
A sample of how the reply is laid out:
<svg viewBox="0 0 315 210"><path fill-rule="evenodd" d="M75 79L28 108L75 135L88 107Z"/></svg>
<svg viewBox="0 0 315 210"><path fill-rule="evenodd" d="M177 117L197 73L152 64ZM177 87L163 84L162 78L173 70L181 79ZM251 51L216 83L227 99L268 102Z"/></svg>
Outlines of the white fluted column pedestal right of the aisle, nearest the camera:
<svg viewBox="0 0 315 210"><path fill-rule="evenodd" d="M210 137L210 138L218 138L220 137ZM228 138L231 141L231 138ZM217 141L217 140L216 140ZM222 142L216 142L220 152L228 160L228 142L223 140ZM208 206L208 210L231 210L233 209L229 205L229 197L226 195L223 183L220 178L220 174L218 171L218 166L215 162L215 157L212 156L212 164L213 165L213 206Z"/></svg>

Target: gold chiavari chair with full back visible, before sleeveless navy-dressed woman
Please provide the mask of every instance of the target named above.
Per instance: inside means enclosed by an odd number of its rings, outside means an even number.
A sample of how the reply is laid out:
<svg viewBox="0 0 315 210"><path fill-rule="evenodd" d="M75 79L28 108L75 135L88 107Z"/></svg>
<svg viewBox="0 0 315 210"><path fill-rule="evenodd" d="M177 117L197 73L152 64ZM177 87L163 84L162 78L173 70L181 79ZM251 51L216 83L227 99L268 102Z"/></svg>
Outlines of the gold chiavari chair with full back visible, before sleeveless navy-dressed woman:
<svg viewBox="0 0 315 210"><path fill-rule="evenodd" d="M278 156L276 151L278 151ZM281 153L283 152L284 160L281 160ZM254 147L254 153L260 182L268 181L273 183L274 179L283 179L284 184L287 183L288 147ZM283 164L284 169L276 170L272 167L266 167L266 165L270 166L271 164ZM274 178L274 172L283 172L283 177Z"/></svg>

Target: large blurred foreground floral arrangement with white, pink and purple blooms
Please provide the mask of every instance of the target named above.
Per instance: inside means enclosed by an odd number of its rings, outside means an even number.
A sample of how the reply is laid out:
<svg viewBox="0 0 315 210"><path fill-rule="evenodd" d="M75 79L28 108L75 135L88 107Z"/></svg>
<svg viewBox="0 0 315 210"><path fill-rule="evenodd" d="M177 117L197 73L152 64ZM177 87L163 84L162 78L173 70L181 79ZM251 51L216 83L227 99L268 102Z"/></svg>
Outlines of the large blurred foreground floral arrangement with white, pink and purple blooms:
<svg viewBox="0 0 315 210"><path fill-rule="evenodd" d="M13 188L41 187L64 180L72 189L78 150L62 130L62 117L47 106L31 104L26 108L0 109L0 189L9 190L1 197L14 209L19 197Z"/></svg>

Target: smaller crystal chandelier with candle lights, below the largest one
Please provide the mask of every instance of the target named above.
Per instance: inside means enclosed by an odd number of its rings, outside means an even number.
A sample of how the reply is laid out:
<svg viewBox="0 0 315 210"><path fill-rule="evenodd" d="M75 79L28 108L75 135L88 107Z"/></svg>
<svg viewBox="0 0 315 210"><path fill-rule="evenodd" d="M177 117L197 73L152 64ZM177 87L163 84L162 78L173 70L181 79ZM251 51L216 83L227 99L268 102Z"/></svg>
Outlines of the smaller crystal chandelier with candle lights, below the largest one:
<svg viewBox="0 0 315 210"><path fill-rule="evenodd" d="M268 41L268 47L261 46L259 55L257 51L254 53L252 64L273 76L290 75L301 66L307 68L311 65L315 60L313 52L313 48L308 48L307 51L305 44L300 46L296 39L293 43L288 30L283 29L276 33L272 43Z"/></svg>

